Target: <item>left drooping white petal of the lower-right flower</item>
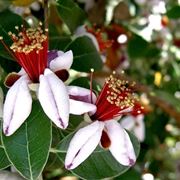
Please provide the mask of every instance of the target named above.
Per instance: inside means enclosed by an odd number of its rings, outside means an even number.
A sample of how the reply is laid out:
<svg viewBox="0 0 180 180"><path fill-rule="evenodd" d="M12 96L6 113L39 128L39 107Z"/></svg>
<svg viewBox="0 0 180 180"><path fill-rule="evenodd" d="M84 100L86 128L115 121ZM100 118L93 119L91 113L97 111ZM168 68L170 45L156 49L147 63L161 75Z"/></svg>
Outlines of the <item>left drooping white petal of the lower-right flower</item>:
<svg viewBox="0 0 180 180"><path fill-rule="evenodd" d="M89 157L100 141L103 128L103 122L95 121L76 132L66 154L66 169L76 168Z"/></svg>

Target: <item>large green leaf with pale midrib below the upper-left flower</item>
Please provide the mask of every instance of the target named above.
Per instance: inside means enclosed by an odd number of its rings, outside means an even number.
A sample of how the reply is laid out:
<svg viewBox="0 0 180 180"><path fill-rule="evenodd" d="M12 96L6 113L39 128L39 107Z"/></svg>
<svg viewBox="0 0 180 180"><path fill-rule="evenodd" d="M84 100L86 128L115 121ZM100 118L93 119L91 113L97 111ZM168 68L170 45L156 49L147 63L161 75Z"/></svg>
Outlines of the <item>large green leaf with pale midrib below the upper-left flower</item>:
<svg viewBox="0 0 180 180"><path fill-rule="evenodd" d="M2 134L6 154L22 176L35 180L41 174L51 146L51 122L38 101L30 116L11 136Z"/></svg>

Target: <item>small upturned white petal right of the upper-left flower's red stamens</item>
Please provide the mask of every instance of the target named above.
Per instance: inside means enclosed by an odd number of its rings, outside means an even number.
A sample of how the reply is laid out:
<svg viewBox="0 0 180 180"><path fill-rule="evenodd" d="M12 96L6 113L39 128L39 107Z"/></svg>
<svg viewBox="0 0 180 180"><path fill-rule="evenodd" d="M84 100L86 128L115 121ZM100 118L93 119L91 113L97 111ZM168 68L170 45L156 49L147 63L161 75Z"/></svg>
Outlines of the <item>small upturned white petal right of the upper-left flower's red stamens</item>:
<svg viewBox="0 0 180 180"><path fill-rule="evenodd" d="M73 53L72 51L67 51L61 55L59 55L57 58L53 59L50 62L50 69L52 71L57 71L61 69L66 69L68 70L73 63Z"/></svg>

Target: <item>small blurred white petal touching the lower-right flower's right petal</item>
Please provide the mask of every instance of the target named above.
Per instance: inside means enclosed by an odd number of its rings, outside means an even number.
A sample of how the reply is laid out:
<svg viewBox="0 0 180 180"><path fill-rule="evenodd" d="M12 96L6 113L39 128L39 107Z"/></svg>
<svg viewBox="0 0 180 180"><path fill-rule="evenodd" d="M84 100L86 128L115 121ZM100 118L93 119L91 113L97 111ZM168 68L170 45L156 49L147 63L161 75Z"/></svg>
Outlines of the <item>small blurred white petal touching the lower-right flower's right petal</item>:
<svg viewBox="0 0 180 180"><path fill-rule="evenodd" d="M134 116L126 116L120 120L120 124L123 128L127 130L132 130L135 125Z"/></svg>

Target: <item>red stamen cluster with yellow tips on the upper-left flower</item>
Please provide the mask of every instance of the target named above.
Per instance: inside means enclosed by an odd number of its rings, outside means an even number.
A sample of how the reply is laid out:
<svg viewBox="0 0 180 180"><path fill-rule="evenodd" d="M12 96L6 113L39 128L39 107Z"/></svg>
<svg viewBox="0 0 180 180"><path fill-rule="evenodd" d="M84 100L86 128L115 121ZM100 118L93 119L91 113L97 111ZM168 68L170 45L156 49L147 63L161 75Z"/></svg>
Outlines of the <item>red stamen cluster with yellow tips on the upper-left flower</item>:
<svg viewBox="0 0 180 180"><path fill-rule="evenodd" d="M23 67L29 78L34 82L39 82L40 74L43 74L47 67L48 38L41 26L37 29L25 29L21 31L15 27L19 33L15 35L9 32L13 44L10 48L2 41L5 48L11 53L13 58Z"/></svg>

